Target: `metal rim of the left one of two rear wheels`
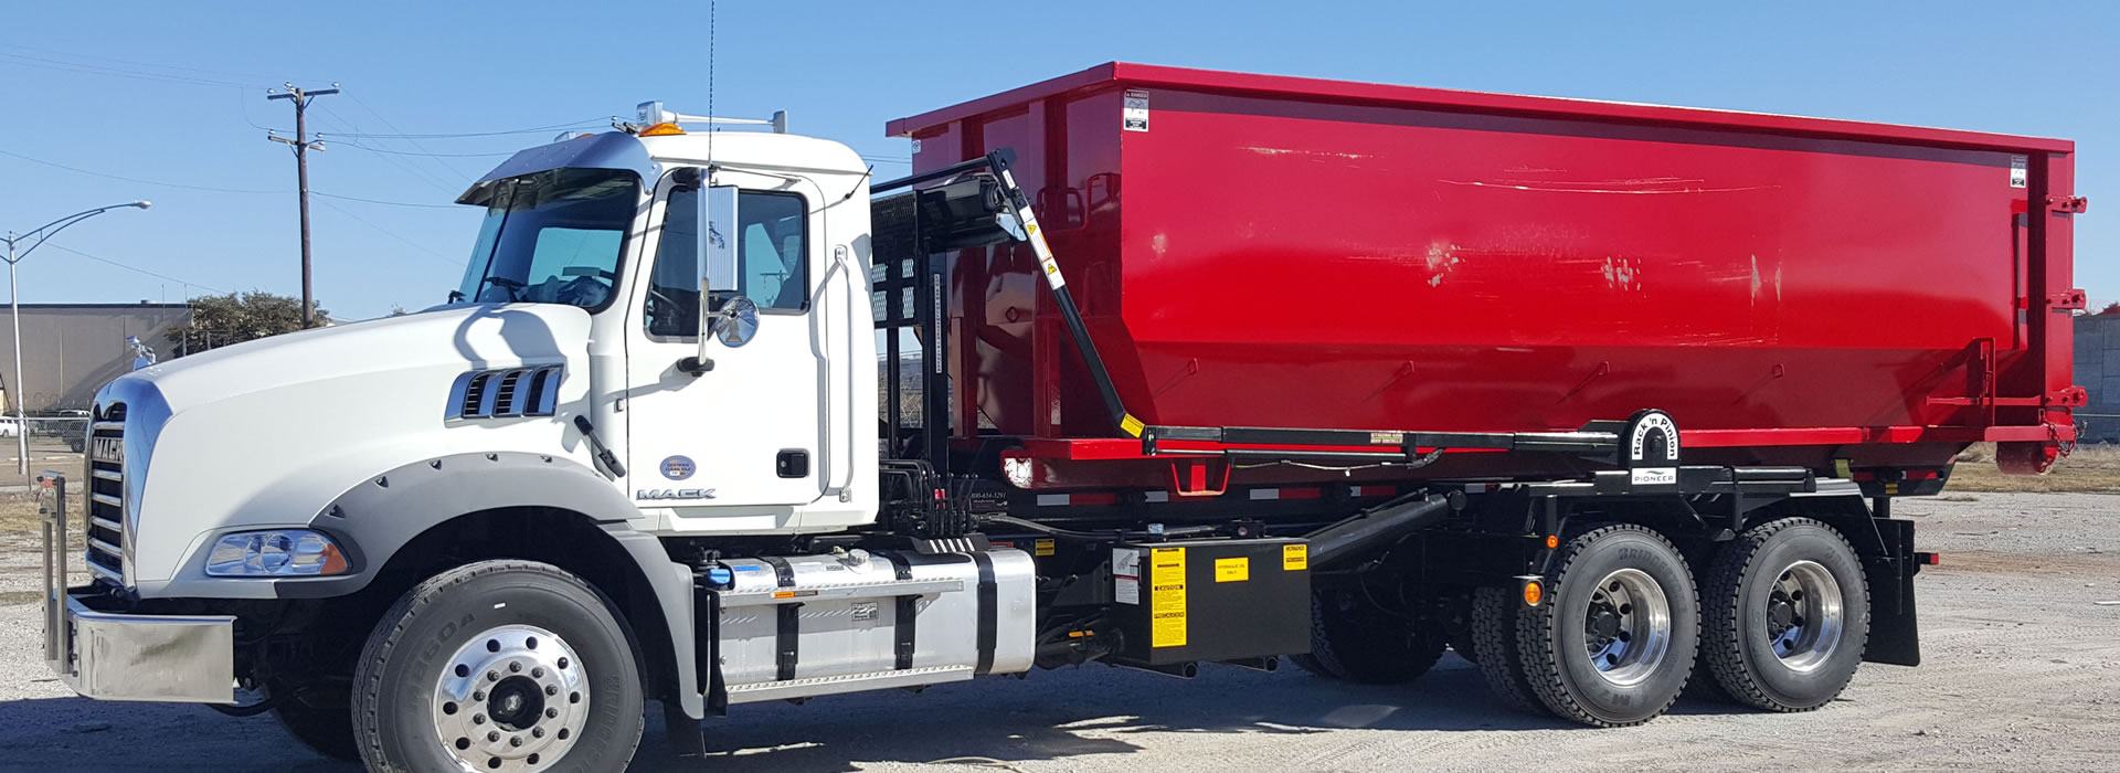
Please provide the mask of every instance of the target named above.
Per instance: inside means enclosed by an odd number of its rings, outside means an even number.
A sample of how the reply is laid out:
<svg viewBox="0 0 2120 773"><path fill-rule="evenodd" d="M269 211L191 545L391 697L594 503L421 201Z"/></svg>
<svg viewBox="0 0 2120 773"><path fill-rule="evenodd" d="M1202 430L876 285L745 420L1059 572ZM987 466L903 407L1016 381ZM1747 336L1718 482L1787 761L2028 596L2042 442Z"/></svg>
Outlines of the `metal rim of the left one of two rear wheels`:
<svg viewBox="0 0 2120 773"><path fill-rule="evenodd" d="M1632 686L1647 680L1671 654L1671 599L1641 570L1615 570L1590 591L1584 610L1584 650L1605 682Z"/></svg>

